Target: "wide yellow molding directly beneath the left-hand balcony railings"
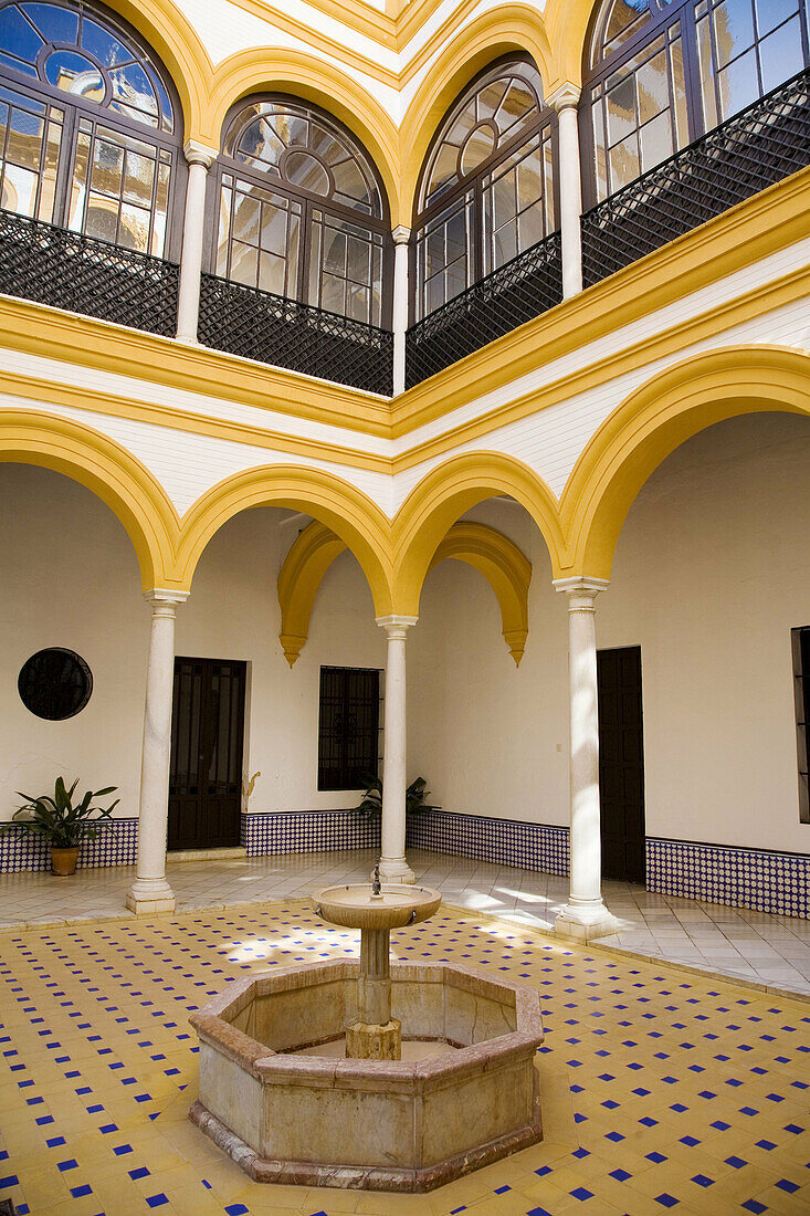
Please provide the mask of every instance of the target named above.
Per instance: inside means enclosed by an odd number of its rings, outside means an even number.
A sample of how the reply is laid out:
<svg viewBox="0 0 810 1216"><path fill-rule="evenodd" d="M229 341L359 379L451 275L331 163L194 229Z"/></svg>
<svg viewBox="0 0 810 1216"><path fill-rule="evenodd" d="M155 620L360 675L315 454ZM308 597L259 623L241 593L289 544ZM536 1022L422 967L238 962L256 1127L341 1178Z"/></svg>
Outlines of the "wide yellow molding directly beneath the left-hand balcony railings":
<svg viewBox="0 0 810 1216"><path fill-rule="evenodd" d="M0 297L2 345L162 388L275 410L370 435L390 434L390 401L208 347Z"/></svg>

